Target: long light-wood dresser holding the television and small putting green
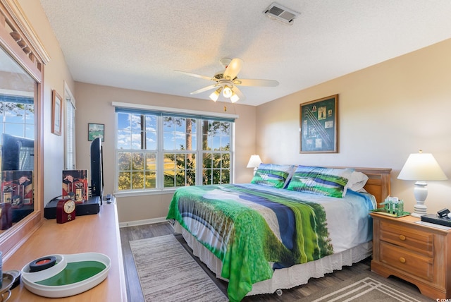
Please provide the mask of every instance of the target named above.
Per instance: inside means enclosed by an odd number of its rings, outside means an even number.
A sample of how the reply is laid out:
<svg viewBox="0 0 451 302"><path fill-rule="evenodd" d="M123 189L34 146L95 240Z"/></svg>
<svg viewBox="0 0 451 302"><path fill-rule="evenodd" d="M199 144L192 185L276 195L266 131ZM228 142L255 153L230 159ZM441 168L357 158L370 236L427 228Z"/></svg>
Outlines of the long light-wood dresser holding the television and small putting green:
<svg viewBox="0 0 451 302"><path fill-rule="evenodd" d="M72 222L57 224L44 219L37 231L4 263L4 271L21 270L24 265L44 255L103 253L111 259L108 277L82 294L65 298L45 298L28 291L23 284L12 290L11 301L127 301L121 236L115 199L104 203L96 215L76 216Z"/></svg>

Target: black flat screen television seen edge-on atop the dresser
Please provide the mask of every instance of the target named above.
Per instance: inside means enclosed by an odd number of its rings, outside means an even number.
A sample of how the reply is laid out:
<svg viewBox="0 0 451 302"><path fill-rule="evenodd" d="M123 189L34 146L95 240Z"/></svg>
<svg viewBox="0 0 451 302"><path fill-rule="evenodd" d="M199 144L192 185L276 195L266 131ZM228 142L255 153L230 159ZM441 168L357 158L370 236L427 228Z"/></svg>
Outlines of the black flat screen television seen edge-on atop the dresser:
<svg viewBox="0 0 451 302"><path fill-rule="evenodd" d="M102 204L104 195L104 162L101 138L94 138L91 143L91 193L100 197Z"/></svg>

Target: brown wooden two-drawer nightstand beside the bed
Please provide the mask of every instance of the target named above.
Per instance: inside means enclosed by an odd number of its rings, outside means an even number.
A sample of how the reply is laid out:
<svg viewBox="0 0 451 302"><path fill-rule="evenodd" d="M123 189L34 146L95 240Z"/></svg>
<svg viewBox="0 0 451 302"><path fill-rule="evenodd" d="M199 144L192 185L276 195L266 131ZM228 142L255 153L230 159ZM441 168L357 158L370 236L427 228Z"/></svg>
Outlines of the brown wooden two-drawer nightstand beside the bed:
<svg viewBox="0 0 451 302"><path fill-rule="evenodd" d="M371 217L371 271L415 284L430 298L451 298L451 229L418 224L420 219L412 216Z"/></svg>

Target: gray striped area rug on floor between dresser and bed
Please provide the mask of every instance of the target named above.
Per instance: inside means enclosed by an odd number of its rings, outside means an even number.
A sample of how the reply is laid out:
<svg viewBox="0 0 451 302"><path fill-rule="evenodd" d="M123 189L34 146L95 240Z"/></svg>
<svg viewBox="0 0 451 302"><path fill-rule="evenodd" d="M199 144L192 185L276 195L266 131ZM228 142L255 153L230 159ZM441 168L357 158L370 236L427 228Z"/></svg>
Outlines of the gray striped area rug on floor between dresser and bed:
<svg viewBox="0 0 451 302"><path fill-rule="evenodd" d="M228 301L173 235L130 241L146 302Z"/></svg>

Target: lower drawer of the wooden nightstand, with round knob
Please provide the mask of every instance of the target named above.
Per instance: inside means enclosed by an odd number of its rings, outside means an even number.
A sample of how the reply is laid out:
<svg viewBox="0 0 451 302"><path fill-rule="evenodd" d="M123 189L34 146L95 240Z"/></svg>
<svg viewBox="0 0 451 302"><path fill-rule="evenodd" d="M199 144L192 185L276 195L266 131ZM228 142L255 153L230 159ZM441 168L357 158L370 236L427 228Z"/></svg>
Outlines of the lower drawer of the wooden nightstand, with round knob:
<svg viewBox="0 0 451 302"><path fill-rule="evenodd" d="M391 267L403 270L408 274L433 282L433 258L418 253L413 253L400 246L381 242L381 262Z"/></svg>

